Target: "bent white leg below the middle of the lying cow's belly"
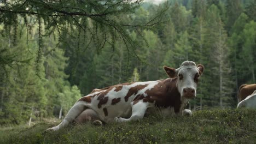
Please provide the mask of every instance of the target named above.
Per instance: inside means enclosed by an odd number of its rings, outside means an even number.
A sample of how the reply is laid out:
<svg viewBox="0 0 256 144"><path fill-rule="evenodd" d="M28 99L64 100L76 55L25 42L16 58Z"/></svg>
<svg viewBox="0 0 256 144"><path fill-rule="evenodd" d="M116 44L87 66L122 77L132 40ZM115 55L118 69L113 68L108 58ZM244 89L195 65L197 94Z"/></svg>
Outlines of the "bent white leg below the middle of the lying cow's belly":
<svg viewBox="0 0 256 144"><path fill-rule="evenodd" d="M129 121L137 121L144 117L146 110L148 109L148 103L144 103L143 100L138 101L138 103L133 104L132 102L132 115L130 118L121 118L116 117L114 120L116 122L129 122Z"/></svg>

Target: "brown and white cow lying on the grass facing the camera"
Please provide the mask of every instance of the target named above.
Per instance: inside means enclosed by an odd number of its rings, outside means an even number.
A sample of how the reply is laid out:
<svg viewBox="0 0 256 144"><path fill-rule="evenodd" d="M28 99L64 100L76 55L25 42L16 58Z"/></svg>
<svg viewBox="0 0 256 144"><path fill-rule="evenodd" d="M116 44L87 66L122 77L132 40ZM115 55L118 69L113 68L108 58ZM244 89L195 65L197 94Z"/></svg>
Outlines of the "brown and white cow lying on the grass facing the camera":
<svg viewBox="0 0 256 144"><path fill-rule="evenodd" d="M164 115L183 115L191 111L184 107L196 97L196 86L203 73L203 65L185 61L178 69L164 66L165 80L122 83L103 89L94 89L80 98L56 127L59 130L73 121L129 122L144 114L160 111ZM86 117L86 118L84 118Z"/></svg>

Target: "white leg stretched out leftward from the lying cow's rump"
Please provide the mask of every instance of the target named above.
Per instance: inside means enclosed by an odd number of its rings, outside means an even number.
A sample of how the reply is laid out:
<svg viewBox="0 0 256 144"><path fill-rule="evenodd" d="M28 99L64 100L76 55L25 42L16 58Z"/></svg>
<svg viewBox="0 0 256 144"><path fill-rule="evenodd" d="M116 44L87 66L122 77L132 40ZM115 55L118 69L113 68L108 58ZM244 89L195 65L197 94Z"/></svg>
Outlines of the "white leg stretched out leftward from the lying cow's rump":
<svg viewBox="0 0 256 144"><path fill-rule="evenodd" d="M85 102L84 101L78 101L71 107L71 109L68 111L66 117L63 119L63 121L57 125L56 127L46 129L48 130L59 130L60 128L67 127L68 124L72 123L74 119L80 115L85 109Z"/></svg>

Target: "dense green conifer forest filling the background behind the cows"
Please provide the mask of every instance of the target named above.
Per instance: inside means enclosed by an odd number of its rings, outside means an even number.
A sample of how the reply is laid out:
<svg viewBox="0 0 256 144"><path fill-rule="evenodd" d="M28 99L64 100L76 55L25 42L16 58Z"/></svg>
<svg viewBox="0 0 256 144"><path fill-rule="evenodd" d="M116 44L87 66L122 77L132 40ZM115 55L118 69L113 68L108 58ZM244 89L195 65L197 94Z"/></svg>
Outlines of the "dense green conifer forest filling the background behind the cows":
<svg viewBox="0 0 256 144"><path fill-rule="evenodd" d="M0 10L3 5L0 3ZM159 5L141 2L132 13L112 16L113 21L131 23L120 26L127 35L116 34L109 27L106 31L110 29L110 34L106 34L103 25L92 21L98 20L94 17L78 20L78 24L98 27L84 32L83 27L71 26L75 23L51 29L46 21L55 19L26 15L23 19L22 14L16 15L14 25L2 14L1 125L61 118L78 98L94 88L166 79L163 65L178 68L187 60L205 66L197 97L188 105L191 110L235 107L239 86L256 82L255 0L171 0ZM155 14L158 17L154 18ZM159 21L152 26L136 26L152 19ZM24 25L27 21L39 23ZM119 32L119 27L114 28ZM92 34L97 31L103 32Z"/></svg>

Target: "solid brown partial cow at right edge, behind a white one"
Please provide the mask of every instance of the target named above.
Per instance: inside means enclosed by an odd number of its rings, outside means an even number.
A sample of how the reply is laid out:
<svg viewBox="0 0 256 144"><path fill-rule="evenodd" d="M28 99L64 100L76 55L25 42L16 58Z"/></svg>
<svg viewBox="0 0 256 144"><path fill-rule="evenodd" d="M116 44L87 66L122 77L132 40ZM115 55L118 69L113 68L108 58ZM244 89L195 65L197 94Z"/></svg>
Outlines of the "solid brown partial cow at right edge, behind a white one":
<svg viewBox="0 0 256 144"><path fill-rule="evenodd" d="M244 100L248 95L251 95L256 90L256 84L244 84L238 89L237 101Z"/></svg>

